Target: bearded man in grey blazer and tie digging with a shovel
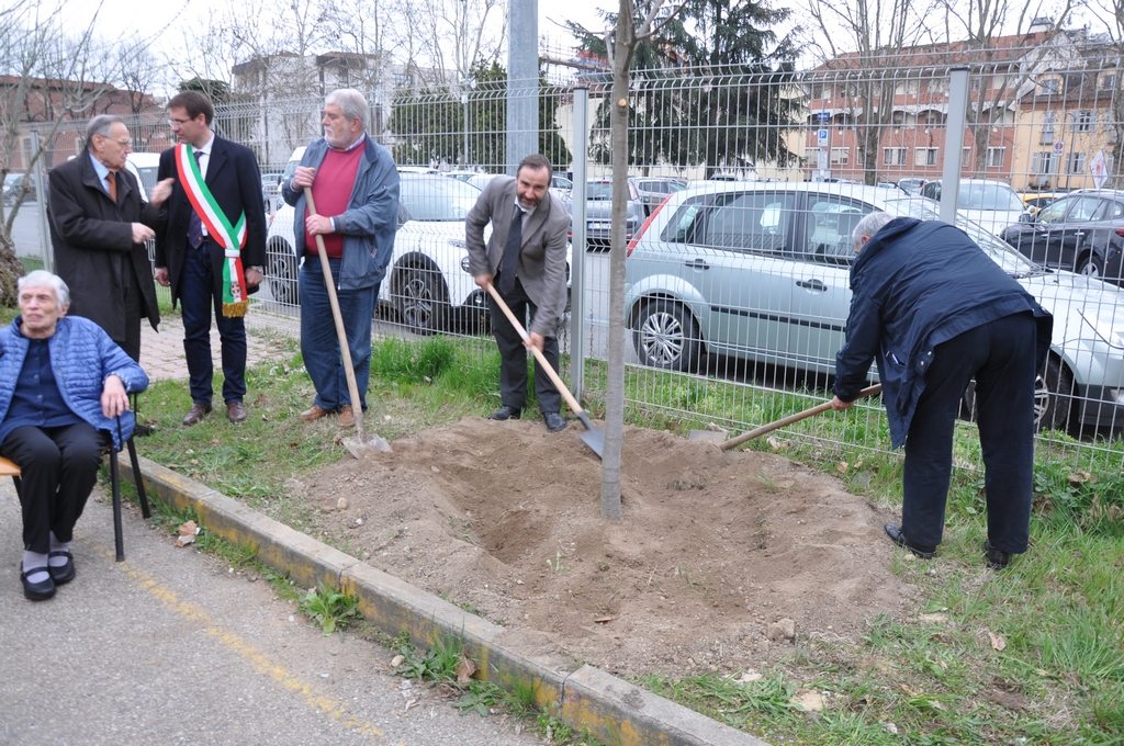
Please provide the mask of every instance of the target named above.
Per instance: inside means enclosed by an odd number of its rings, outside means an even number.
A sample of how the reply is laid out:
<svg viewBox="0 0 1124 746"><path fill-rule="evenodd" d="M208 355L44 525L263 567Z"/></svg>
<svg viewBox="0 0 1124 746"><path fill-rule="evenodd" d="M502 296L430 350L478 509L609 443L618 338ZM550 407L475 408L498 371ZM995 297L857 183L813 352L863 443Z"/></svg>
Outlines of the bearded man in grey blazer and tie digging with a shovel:
<svg viewBox="0 0 1124 746"><path fill-rule="evenodd" d="M525 319L529 342L543 353L554 370L559 366L559 343L554 329L565 310L565 242L570 215L559 198L550 193L551 163L545 156L528 155L515 179L501 176L488 182L465 218L469 271L481 288L495 281L496 289L516 318ZM484 245L484 226L492 224ZM527 351L523 338L489 294L488 310L499 346L499 385L504 406L489 415L495 420L519 419L527 395ZM546 429L566 427L562 397L535 362L535 395Z"/></svg>

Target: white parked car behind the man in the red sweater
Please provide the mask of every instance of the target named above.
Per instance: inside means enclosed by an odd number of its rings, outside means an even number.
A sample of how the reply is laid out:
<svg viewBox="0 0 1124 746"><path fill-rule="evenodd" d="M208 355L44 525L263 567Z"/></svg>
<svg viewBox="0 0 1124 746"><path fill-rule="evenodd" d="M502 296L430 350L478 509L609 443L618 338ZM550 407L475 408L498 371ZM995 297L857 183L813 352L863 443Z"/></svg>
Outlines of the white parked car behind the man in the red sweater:
<svg viewBox="0 0 1124 746"><path fill-rule="evenodd" d="M469 273L464 243L464 218L480 191L442 175L407 172L400 176L398 234L378 304L396 311L402 324L418 333L486 329L487 293ZM282 204L270 219L265 274L274 300L298 304L300 257L296 254L293 208ZM568 254L568 278L569 272Z"/></svg>

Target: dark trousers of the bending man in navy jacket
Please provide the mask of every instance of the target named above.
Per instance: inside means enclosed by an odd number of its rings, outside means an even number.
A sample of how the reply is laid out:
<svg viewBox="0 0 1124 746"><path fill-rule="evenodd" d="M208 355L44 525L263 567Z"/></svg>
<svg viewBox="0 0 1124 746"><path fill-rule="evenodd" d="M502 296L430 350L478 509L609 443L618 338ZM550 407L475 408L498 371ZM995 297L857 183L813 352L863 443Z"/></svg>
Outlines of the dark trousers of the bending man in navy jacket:
<svg viewBox="0 0 1124 746"><path fill-rule="evenodd" d="M934 349L906 438L901 529L913 544L941 543L957 411L975 376L988 539L1004 552L1026 552L1034 476L1034 318L1016 313Z"/></svg>

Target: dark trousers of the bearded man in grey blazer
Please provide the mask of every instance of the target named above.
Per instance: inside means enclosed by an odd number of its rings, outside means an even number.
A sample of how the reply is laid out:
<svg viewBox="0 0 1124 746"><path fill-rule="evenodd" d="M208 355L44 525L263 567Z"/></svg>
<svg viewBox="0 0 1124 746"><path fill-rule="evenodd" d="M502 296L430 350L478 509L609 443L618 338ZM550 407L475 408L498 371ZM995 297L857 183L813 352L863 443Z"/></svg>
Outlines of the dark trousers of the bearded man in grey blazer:
<svg viewBox="0 0 1124 746"><path fill-rule="evenodd" d="M496 289L499 290L499 278L495 280ZM531 326L527 312L531 312L531 321L534 321L538 307L531 302L527 293L523 290L523 283L515 281L515 288L509 293L500 293L500 297L511 309L515 318L523 322L524 328ZM499 346L501 358L499 367L499 392L501 401L508 407L523 409L527 403L527 348L523 346L523 337L515 330L511 322L507 320L504 311L496 304L496 299L488 294L488 311L491 315L492 334L496 335L496 344ZM551 364L555 372L559 370L559 340L555 336L546 337L543 343L543 356ZM538 397L538 409L543 412L558 412L562 409L562 394L559 393L551 379L543 371L543 367L535 361L535 395Z"/></svg>

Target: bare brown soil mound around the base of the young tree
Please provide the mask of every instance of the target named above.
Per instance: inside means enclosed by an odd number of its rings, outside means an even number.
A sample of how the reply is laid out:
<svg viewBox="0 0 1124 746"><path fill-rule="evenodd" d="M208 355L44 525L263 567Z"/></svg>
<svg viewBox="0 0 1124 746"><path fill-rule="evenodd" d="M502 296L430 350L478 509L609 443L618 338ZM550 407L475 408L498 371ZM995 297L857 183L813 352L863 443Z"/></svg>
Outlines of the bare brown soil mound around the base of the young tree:
<svg viewBox="0 0 1124 746"><path fill-rule="evenodd" d="M626 428L610 522L578 428L464 419L289 489L371 565L502 624L517 649L618 675L760 666L904 616L888 516L832 476Z"/></svg>

